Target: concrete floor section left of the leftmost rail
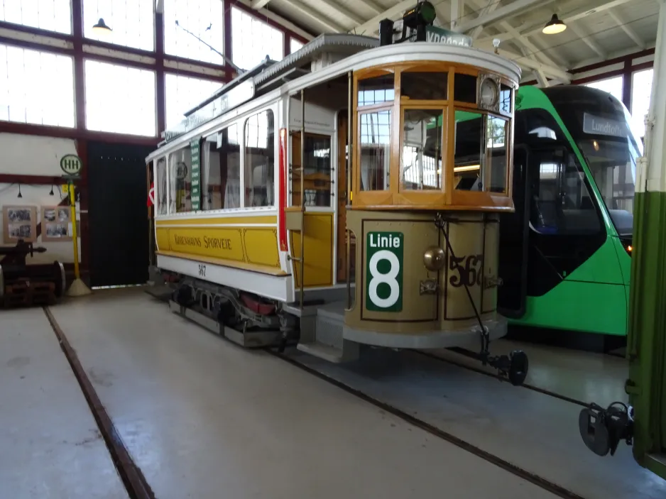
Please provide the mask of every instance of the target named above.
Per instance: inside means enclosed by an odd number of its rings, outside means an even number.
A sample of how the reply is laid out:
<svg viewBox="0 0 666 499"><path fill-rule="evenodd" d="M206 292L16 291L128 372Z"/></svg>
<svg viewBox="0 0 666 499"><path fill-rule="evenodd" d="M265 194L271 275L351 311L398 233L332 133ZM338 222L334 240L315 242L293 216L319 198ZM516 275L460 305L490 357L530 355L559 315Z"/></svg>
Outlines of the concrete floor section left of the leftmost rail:
<svg viewBox="0 0 666 499"><path fill-rule="evenodd" d="M40 308L0 312L0 497L127 498Z"/></svg>

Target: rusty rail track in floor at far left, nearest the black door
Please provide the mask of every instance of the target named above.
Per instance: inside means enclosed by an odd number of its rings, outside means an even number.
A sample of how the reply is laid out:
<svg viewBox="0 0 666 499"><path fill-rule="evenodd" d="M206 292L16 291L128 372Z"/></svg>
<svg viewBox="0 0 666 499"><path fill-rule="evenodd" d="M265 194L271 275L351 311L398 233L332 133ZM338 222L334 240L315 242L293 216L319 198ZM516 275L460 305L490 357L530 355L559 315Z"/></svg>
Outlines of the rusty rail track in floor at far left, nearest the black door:
<svg viewBox="0 0 666 499"><path fill-rule="evenodd" d="M64 331L60 328L58 321L55 320L50 309L48 307L43 307L43 309L51 325L51 329L53 329L55 336L58 338L60 349L65 353L65 358L70 363L70 367L74 372L86 402L88 402L90 412L92 412L99 432L104 438L104 443L107 445L109 454L111 454L111 460L116 467L116 471L118 471L129 499L155 499L153 490L148 485L148 482L146 482L141 469L134 463L113 421L111 421L111 417L109 417L107 410L104 409L102 401L99 400L99 396L81 365L76 351L72 349L70 342L67 341L67 336L65 336Z"/></svg>

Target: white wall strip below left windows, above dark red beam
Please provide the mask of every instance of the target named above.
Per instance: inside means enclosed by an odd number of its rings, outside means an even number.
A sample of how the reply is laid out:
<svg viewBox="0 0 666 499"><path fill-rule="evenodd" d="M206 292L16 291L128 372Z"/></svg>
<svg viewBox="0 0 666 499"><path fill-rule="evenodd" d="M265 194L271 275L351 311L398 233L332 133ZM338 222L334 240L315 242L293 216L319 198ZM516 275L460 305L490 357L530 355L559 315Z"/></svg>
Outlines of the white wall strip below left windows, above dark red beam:
<svg viewBox="0 0 666 499"><path fill-rule="evenodd" d="M0 173L7 175L62 175L60 158L76 154L70 138L0 133Z"/></svg>

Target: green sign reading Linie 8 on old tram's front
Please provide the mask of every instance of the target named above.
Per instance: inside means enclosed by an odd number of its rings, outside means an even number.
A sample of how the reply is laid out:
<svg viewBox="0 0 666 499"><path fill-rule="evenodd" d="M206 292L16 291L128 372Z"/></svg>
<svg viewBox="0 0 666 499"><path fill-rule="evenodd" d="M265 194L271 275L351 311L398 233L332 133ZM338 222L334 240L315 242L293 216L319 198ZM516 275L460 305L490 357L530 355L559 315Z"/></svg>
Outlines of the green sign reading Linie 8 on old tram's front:
<svg viewBox="0 0 666 499"><path fill-rule="evenodd" d="M400 312L403 309L402 232L369 232L366 240L366 309Z"/></svg>

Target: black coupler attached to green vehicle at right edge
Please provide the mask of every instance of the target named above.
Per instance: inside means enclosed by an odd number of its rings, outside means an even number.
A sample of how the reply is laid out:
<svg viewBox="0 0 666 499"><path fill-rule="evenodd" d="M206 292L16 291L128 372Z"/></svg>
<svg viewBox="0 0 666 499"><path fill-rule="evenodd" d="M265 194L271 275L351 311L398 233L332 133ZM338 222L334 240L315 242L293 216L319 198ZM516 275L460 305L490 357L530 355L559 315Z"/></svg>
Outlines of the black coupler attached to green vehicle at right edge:
<svg viewBox="0 0 666 499"><path fill-rule="evenodd" d="M614 456L621 440L633 442L633 407L613 402L604 409L593 402L580 412L578 426L588 449L598 456Z"/></svg>

